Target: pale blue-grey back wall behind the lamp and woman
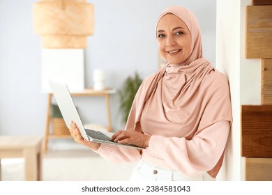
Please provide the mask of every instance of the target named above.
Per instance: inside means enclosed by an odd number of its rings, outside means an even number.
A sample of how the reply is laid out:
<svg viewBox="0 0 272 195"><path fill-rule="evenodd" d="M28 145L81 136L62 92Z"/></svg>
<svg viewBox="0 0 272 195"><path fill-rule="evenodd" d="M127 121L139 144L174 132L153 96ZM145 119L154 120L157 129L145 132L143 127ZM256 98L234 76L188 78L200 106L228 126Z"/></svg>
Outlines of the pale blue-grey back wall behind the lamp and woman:
<svg viewBox="0 0 272 195"><path fill-rule="evenodd" d="M0 134L45 132L47 95L40 93L40 36L33 34L35 1L0 1ZM95 6L95 33L85 49L85 86L94 68L106 72L107 87L120 88L136 70L146 77L158 69L155 23L167 6L192 10L202 29L206 59L216 62L216 0L88 0ZM75 98L84 123L107 124L103 98ZM123 127L119 97L111 98L114 130Z"/></svg>

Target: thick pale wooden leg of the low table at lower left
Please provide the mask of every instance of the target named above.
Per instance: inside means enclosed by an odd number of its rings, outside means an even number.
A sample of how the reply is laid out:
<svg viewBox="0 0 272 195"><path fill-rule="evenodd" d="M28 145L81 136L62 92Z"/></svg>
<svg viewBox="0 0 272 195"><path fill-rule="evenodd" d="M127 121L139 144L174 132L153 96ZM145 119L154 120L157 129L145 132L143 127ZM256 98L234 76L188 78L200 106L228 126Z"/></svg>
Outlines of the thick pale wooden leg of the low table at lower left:
<svg viewBox="0 0 272 195"><path fill-rule="evenodd" d="M38 180L38 159L35 148L24 149L24 176L27 181Z"/></svg>

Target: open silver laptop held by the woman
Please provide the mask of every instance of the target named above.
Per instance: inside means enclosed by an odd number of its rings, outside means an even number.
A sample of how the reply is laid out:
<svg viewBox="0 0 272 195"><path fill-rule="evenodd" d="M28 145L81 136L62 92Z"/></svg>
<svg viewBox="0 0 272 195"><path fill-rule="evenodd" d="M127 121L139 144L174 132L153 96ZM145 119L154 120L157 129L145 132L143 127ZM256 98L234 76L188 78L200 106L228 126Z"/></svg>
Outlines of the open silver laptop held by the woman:
<svg viewBox="0 0 272 195"><path fill-rule="evenodd" d="M124 146L129 148L143 149L133 144L128 144L128 143L121 144L121 143L116 143L114 141L110 141L110 138L112 137L113 133L107 132L106 134L98 130L85 129L82 123L82 120L80 119L80 115L78 114L75 104L73 102L73 98L70 95L68 86L65 83L62 83L60 81L56 81L53 79L47 79L47 80L50 84L50 87L54 94L54 98L56 100L56 103L59 106L59 109L61 110L61 114L63 116L63 119L68 129L70 129L71 121L74 121L77 124L77 128L80 130L80 134L82 135L82 137L88 141L93 141L97 143L105 143L105 144L110 144L114 146Z"/></svg>

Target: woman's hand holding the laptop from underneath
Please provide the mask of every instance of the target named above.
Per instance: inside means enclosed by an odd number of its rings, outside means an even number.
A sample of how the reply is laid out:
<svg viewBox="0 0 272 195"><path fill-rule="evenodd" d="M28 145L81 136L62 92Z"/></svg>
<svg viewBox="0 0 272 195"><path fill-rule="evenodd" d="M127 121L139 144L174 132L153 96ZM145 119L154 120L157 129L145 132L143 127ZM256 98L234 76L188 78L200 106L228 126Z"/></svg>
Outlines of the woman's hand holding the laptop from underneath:
<svg viewBox="0 0 272 195"><path fill-rule="evenodd" d="M98 148L100 147L100 143L95 143L95 142L87 141L86 139L84 139L81 136L80 130L77 128L77 125L73 121L71 122L69 132L71 136L73 137L73 139L75 140L75 142L77 143L80 143L86 147L89 147L92 150L98 150Z"/></svg>

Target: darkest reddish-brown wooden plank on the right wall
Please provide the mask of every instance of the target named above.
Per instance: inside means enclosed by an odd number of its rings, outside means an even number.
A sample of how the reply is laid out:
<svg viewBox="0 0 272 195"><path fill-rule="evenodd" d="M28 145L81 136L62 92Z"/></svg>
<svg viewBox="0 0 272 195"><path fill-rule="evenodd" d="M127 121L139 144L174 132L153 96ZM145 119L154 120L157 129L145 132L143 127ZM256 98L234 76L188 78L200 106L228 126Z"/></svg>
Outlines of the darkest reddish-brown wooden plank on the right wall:
<svg viewBox="0 0 272 195"><path fill-rule="evenodd" d="M272 105L241 106L241 155L272 157Z"/></svg>

